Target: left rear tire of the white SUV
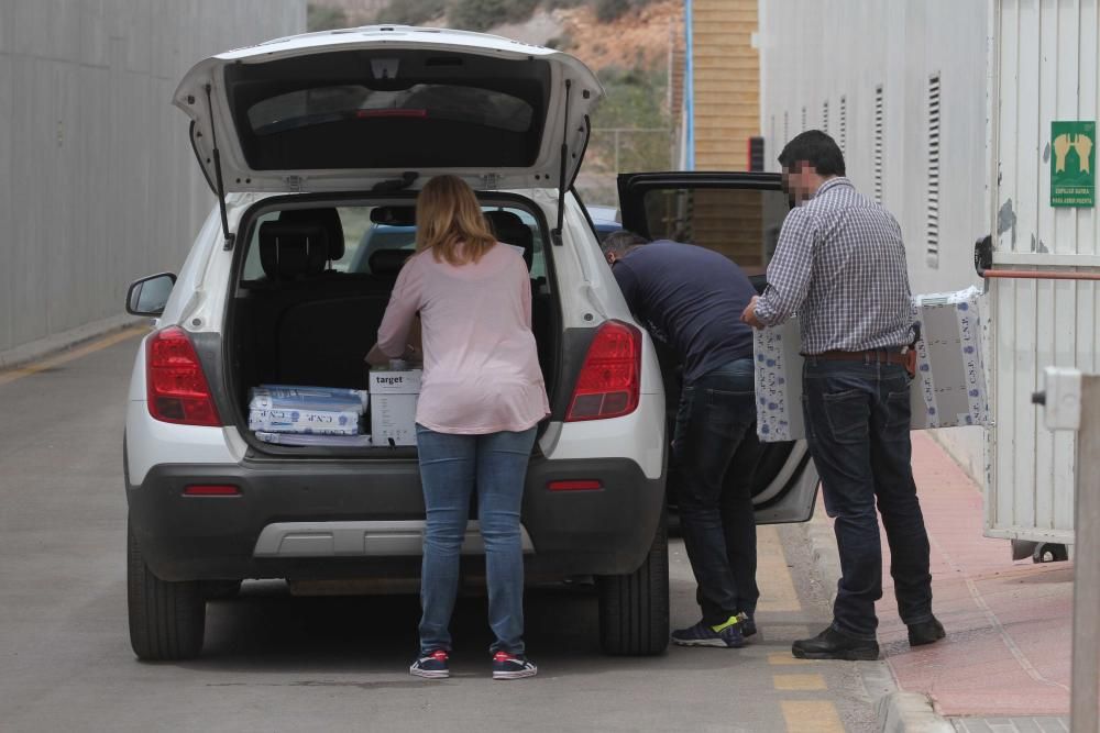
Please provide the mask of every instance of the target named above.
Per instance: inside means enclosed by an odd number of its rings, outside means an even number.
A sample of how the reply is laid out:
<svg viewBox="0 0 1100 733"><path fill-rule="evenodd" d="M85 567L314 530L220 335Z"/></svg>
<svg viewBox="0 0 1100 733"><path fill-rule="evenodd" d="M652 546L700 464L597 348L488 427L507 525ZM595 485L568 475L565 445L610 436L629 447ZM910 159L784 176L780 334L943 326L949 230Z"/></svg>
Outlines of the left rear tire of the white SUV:
<svg viewBox="0 0 1100 733"><path fill-rule="evenodd" d="M153 575L129 524L127 544L127 600L134 654L144 662L198 656L206 632L206 598L199 584L169 582Z"/></svg>

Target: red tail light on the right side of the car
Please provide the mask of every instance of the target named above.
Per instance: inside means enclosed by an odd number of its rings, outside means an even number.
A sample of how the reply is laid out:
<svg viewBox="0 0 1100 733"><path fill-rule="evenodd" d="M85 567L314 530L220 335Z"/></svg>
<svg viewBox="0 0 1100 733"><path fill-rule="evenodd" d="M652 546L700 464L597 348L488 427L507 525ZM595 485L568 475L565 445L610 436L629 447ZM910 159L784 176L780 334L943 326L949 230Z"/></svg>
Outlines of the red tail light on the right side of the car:
<svg viewBox="0 0 1100 733"><path fill-rule="evenodd" d="M640 391L641 332L622 321L607 321L588 346L565 422L629 414L638 408Z"/></svg>

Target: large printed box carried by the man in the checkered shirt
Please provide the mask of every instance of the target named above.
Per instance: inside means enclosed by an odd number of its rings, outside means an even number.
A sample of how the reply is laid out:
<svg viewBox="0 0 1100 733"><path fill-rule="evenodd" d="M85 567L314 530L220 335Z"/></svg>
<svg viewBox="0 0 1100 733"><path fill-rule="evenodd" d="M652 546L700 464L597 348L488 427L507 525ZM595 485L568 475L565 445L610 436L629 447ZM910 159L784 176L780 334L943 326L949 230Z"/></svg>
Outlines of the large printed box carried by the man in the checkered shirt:
<svg viewBox="0 0 1100 733"><path fill-rule="evenodd" d="M913 316L921 324L916 378L910 390L913 430L989 424L981 306L977 288L913 298ZM761 441L793 441L806 435L801 349L796 318L756 332L757 433Z"/></svg>

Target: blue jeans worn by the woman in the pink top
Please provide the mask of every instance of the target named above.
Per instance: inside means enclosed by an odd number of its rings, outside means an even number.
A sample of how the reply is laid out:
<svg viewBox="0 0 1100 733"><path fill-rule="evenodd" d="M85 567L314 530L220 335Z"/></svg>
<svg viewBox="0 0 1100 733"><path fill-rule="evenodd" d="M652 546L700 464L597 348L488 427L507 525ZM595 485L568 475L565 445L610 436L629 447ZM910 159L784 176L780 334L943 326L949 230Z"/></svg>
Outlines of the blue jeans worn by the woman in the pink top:
<svg viewBox="0 0 1100 733"><path fill-rule="evenodd" d="M477 487L485 543L491 651L524 653L524 551L519 509L536 429L453 435L416 426L428 522L420 575L420 652L451 649L448 626L459 591L459 551Z"/></svg>

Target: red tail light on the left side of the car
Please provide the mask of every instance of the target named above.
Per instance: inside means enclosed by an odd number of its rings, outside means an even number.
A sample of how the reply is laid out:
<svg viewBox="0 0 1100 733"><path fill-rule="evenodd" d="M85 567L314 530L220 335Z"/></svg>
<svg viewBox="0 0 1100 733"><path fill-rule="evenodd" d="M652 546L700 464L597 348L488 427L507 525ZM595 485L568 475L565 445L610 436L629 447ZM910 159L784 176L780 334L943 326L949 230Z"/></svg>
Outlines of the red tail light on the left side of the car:
<svg viewBox="0 0 1100 733"><path fill-rule="evenodd" d="M191 340L178 326L154 333L145 346L148 413L180 425L220 425L213 396Z"/></svg>

